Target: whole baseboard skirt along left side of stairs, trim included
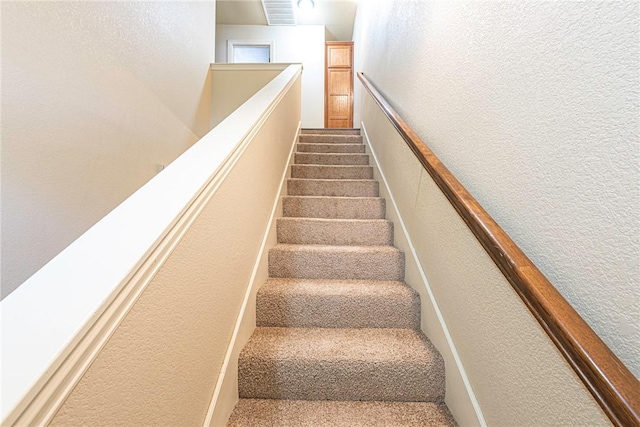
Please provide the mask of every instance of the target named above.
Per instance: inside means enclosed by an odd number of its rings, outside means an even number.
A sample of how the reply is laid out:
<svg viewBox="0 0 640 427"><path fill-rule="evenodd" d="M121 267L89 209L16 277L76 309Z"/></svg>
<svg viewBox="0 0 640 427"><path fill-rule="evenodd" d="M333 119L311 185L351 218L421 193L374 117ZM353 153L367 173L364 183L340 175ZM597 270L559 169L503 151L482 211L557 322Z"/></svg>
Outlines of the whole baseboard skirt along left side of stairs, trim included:
<svg viewBox="0 0 640 427"><path fill-rule="evenodd" d="M298 131L293 139L287 166L280 179L280 187L271 210L268 226L265 230L258 251L258 257L251 272L251 278L247 285L247 289L238 313L231 341L227 348L224 363L220 369L220 375L216 382L216 388L209 404L207 416L204 420L203 427L224 427L238 403L238 356L242 348L245 346L251 334L256 328L256 293L266 279L268 278L268 255L269 249L276 243L276 219L278 213L282 212L282 195L285 191L287 178L291 171L291 163L295 152L296 142L300 133L301 124L298 123Z"/></svg>

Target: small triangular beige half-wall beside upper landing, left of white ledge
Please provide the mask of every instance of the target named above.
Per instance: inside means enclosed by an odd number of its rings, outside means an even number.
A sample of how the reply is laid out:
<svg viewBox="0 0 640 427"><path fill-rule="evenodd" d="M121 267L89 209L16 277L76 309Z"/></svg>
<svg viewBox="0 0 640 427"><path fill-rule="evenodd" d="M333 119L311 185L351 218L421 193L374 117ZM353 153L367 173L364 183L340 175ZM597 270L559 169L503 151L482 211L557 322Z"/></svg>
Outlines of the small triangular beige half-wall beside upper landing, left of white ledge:
<svg viewBox="0 0 640 427"><path fill-rule="evenodd" d="M213 64L211 68L211 127L214 128L236 108L244 104L264 85L276 77L287 65L271 67L271 69L224 69L227 64Z"/></svg>

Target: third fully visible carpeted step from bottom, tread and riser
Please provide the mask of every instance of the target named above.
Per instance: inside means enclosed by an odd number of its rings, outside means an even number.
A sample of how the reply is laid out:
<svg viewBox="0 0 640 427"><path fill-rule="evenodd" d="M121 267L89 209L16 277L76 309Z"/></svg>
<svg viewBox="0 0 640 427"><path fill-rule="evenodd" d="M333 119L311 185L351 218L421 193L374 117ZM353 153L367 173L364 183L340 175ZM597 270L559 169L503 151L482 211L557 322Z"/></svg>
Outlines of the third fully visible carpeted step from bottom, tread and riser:
<svg viewBox="0 0 640 427"><path fill-rule="evenodd" d="M278 243L269 250L269 277L404 280L404 253L393 246Z"/></svg>

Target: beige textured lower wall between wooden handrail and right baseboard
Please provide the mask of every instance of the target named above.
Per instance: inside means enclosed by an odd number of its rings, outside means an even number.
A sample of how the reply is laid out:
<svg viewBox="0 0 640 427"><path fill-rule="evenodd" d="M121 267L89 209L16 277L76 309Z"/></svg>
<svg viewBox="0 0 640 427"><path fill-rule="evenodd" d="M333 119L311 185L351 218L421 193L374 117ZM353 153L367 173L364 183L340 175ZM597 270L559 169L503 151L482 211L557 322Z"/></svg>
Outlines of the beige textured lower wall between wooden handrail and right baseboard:
<svg viewBox="0 0 640 427"><path fill-rule="evenodd" d="M362 107L379 167L487 424L608 425L589 392L393 126L371 98L364 98ZM402 239L396 238L396 244L409 253ZM423 308L428 309L421 281L409 274L406 280L420 292ZM423 313L423 319L433 317ZM437 327L425 324L423 329L429 333ZM438 341L442 342L436 337L434 342ZM449 353L442 345L440 349ZM452 370L450 362L447 370ZM454 407L462 390L451 386L448 379L447 402ZM472 419L466 410L454 415L459 422Z"/></svg>

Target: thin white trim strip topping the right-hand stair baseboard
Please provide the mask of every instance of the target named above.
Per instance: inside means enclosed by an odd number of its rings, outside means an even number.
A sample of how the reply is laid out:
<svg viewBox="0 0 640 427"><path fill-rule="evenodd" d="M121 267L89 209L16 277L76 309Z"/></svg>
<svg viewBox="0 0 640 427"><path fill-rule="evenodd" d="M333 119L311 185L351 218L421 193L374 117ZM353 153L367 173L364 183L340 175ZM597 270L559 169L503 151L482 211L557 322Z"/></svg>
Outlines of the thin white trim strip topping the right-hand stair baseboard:
<svg viewBox="0 0 640 427"><path fill-rule="evenodd" d="M395 199L393 198L393 192L391 191L391 188L389 187L389 183L387 182L387 179L384 175L384 172L382 171L382 168L380 167L380 162L378 162L378 157L376 156L376 152L373 149L373 147L371 146L370 140L369 140L369 135L367 134L367 128L364 124L364 122L360 122L361 123L361 132L362 132L362 139L363 142L365 143L365 145L369 148L369 150L371 151L371 155L373 157L373 161L375 163L374 167L377 169L378 173L380 174L380 178L382 179L382 182L387 190L387 194L389 196L389 200L391 201L391 206L393 207L393 210L398 218L398 223L400 225L400 229L402 230L402 233L405 237L405 239L407 240L408 246L409 246L409 252L411 253L411 257L413 258L413 261L415 262L418 271L420 272L420 277L422 279L422 282L424 284L424 287L427 291L427 294L429 295L429 302L431 303L431 306L433 307L433 310L438 318L438 322L440 324L440 328L442 329L442 333L444 334L446 341L447 341L447 345L449 346L449 351L451 352L451 355L453 356L453 359L455 361L456 364L456 369L459 371L460 373L460 377L462 378L462 381L464 383L464 388L467 392L467 395L469 396L469 401L471 402L471 405L473 405L473 410L475 412L475 415L478 419L478 424L482 427L486 427L487 423L484 419L484 416L482 414L482 409L480 408L480 404L478 403L478 400L476 399L475 393L473 392L473 388L471 387L471 383L469 381L469 377L467 376L467 373L464 369L464 366L462 364L462 360L460 359L460 355L458 354L458 350L456 349L455 343L453 342L453 338L451 337L451 334L449 333L449 329L447 328L447 324L444 320L444 317L442 315L442 312L440 311L440 307L438 306L438 302L436 301L435 295L433 294L433 291L431 289L431 285L429 284L429 280L427 279L427 275L424 272L424 269L422 268L422 264L420 263L420 258L418 258L418 254L416 253L416 249L415 246L413 245L413 242L411 241L411 236L409 235L409 231L407 230L407 227L405 226L404 220L402 218L402 215L400 214L400 210L398 209L398 205L396 204ZM396 229L397 230L397 229Z"/></svg>

